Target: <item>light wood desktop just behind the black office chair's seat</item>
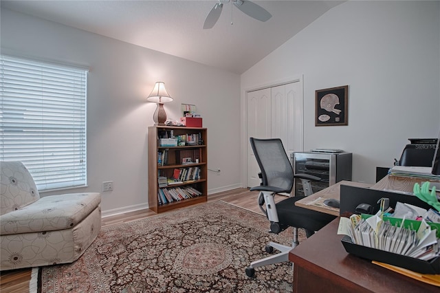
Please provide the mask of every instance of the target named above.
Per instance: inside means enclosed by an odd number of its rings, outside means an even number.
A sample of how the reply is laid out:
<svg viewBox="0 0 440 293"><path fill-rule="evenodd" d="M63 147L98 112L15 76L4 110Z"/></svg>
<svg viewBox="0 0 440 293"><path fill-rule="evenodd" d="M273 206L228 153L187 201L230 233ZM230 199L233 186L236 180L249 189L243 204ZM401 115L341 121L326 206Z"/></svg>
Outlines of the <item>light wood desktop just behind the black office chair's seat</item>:
<svg viewBox="0 0 440 293"><path fill-rule="evenodd" d="M372 184L342 180L342 181L340 181L336 184L333 184L325 189L322 189L322 191L318 191L317 193L309 195L308 197L305 197L304 199L298 200L298 202L295 203L295 206L300 206L302 208L308 208L309 210L316 210L321 213L326 213L326 214L338 217L339 216L339 208L331 208L330 206L325 206L324 201L325 201L325 199L330 199L330 198L339 199L341 184L350 185L350 186L357 186L357 187L371 187L372 186Z"/></svg>

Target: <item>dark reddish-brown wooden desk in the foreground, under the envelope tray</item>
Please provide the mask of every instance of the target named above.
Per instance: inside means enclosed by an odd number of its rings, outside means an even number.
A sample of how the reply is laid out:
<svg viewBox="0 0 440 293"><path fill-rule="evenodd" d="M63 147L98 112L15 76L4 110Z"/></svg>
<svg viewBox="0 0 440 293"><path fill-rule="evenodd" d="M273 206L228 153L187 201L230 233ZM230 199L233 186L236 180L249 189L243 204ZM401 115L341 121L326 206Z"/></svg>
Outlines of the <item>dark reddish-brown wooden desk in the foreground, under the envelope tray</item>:
<svg viewBox="0 0 440 293"><path fill-rule="evenodd" d="M440 292L439 287L408 278L347 253L339 218L289 252L294 292Z"/></svg>

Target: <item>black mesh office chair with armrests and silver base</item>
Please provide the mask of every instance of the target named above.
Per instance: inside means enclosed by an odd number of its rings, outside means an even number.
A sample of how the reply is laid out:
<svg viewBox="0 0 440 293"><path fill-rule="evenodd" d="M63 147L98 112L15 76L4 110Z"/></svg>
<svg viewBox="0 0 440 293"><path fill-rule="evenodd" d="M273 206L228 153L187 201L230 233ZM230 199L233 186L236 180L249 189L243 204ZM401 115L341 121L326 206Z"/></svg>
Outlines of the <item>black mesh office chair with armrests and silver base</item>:
<svg viewBox="0 0 440 293"><path fill-rule="evenodd" d="M259 204L260 206L265 205L266 209L263 211L270 220L270 232L278 234L288 227L294 228L292 246L270 242L265 247L266 252L271 253L273 248L281 252L265 259L253 261L246 268L246 274L254 276L254 268L289 260L289 251L298 245L298 228L305 228L306 235L309 237L314 234L314 231L320 230L336 217L295 206L295 202L305 196L287 197L287 199L275 203L274 195L276 193L292 192L295 177L303 180L303 186L306 186L306 195L313 193L309 184L310 180L320 180L320 178L307 174L294 175L283 142L279 138L250 138L250 144L261 170L261 185L252 187L250 190L260 191Z"/></svg>

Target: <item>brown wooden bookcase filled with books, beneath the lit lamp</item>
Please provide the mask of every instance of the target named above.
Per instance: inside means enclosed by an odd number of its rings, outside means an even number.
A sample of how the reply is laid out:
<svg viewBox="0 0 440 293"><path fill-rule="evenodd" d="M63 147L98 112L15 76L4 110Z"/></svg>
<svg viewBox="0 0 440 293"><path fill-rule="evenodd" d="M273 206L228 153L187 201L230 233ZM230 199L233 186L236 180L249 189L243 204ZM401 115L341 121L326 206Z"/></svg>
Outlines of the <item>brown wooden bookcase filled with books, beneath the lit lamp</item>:
<svg viewBox="0 0 440 293"><path fill-rule="evenodd" d="M175 138L177 146L160 146ZM208 133L201 127L148 127L148 206L155 213L208 199Z"/></svg>

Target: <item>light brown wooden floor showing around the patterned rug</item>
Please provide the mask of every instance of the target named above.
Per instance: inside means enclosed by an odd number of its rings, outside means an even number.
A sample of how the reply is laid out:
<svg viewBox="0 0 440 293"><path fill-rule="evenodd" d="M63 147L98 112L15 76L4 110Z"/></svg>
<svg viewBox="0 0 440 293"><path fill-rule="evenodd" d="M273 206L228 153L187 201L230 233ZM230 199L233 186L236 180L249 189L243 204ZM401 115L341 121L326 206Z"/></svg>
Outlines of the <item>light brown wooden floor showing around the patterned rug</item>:
<svg viewBox="0 0 440 293"><path fill-rule="evenodd" d="M237 188L232 191L225 191L222 193L215 193L208 195L208 202L223 200L230 204L240 206L252 210L256 213L261 213L257 198L259 193L257 191L249 191L248 188ZM276 197L276 202L283 199L282 195ZM138 210L132 213L122 213L120 215L104 217L102 219L102 227L127 223L144 219L156 215L151 210ZM0 274L0 292L1 293L24 293L29 292L29 281L31 278L31 269L10 270L1 272Z"/></svg>

